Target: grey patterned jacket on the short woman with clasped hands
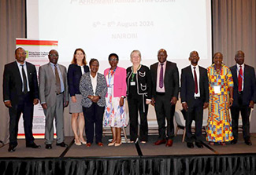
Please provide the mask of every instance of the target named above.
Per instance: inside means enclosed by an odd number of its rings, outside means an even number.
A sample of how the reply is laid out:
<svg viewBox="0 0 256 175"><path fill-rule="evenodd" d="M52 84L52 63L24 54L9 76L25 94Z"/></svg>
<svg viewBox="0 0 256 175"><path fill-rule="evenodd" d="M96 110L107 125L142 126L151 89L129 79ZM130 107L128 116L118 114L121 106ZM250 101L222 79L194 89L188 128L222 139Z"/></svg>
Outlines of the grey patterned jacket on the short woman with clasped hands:
<svg viewBox="0 0 256 175"><path fill-rule="evenodd" d="M105 107L106 105L106 91L107 91L107 85L106 85L106 78L104 75L98 73L97 75L97 86L95 95L101 97L97 104L100 107ZM82 75L81 81L80 81L80 92L83 96L82 99L82 106L85 108L91 107L92 101L88 98L89 95L93 96L93 89L91 84L91 76L90 72L87 72Z"/></svg>

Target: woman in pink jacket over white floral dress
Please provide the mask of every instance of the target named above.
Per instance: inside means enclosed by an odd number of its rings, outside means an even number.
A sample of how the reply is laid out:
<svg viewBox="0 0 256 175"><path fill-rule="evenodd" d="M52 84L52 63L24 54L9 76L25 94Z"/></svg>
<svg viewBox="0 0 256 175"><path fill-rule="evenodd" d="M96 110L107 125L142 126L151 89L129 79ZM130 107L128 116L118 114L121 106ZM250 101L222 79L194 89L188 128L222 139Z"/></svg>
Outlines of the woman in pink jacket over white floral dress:
<svg viewBox="0 0 256 175"><path fill-rule="evenodd" d="M108 146L121 145L121 128L127 126L124 98L126 95L126 70L117 67L118 56L116 53L109 55L110 68L104 71L108 91L106 93L106 109L104 126L110 126L113 140Z"/></svg>

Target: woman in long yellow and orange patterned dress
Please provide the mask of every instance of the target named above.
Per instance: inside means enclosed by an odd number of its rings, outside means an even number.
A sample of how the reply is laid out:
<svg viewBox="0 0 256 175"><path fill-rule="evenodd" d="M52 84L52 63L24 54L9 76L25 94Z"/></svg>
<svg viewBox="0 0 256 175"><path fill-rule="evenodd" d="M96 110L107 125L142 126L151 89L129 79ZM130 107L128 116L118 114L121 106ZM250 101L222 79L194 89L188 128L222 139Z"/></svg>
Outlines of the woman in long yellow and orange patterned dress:
<svg viewBox="0 0 256 175"><path fill-rule="evenodd" d="M222 53L215 53L214 64L207 68L209 78L209 118L206 140L211 145L233 140L229 108L233 104L233 79L230 69L222 64Z"/></svg>

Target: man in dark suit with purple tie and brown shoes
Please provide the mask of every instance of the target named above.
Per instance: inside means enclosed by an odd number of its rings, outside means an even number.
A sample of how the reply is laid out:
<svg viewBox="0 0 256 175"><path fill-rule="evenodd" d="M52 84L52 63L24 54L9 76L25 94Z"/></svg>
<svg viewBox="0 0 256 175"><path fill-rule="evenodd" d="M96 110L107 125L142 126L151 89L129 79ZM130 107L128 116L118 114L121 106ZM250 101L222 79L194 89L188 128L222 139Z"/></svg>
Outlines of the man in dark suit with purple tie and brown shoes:
<svg viewBox="0 0 256 175"><path fill-rule="evenodd" d="M158 63L150 66L152 78L152 99L158 119L158 140L155 145L173 145L173 115L179 93L179 71L175 63L166 60L165 49L158 51ZM167 120L167 142L165 134L165 118Z"/></svg>

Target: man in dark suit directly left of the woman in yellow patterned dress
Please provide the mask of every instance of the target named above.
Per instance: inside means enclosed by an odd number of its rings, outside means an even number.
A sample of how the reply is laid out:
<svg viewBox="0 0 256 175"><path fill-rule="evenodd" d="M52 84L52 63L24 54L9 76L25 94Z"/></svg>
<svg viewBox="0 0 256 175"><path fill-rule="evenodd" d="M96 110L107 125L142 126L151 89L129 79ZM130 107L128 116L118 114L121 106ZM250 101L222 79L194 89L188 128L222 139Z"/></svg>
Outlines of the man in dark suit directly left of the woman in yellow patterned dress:
<svg viewBox="0 0 256 175"><path fill-rule="evenodd" d="M209 105L209 82L207 70L198 66L198 53L192 51L189 60L191 65L181 70L180 97L182 107L187 111L186 116L186 141L188 148L194 148L194 137L191 132L191 123L195 120L195 145L203 148L202 115L203 108Z"/></svg>

